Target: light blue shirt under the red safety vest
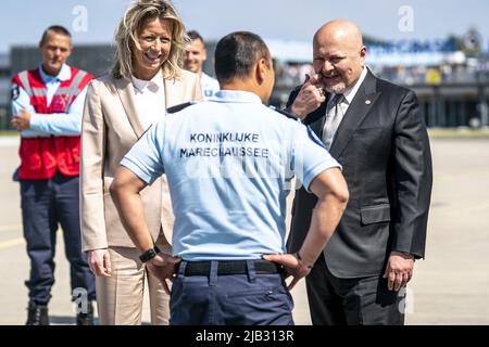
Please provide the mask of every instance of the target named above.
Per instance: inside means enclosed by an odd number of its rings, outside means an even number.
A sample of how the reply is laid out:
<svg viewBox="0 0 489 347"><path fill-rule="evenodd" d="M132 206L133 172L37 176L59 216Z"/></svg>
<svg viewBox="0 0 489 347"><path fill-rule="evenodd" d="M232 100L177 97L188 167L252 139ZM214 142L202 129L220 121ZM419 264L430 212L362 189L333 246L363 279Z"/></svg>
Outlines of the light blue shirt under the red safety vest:
<svg viewBox="0 0 489 347"><path fill-rule="evenodd" d="M58 76L47 75L42 66L39 66L40 77L46 83L47 102L51 103L52 97L57 92L61 82L72 78L72 70L70 66L64 64L61 67ZM12 88L18 86L14 85ZM88 86L87 86L88 87ZM30 104L30 98L24 88L18 88L18 98L12 101L12 115L17 115L21 110L30 113L30 129L22 131L23 138L37 138L50 136L79 136L82 132L82 117L84 112L85 97L87 94L87 87L76 97L71 104L68 113L53 113L53 114L37 114Z"/></svg>

